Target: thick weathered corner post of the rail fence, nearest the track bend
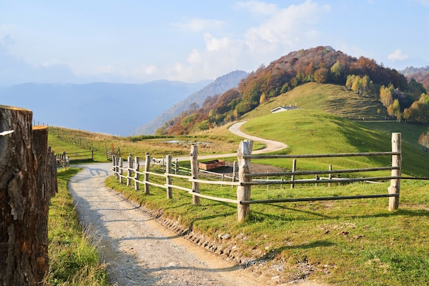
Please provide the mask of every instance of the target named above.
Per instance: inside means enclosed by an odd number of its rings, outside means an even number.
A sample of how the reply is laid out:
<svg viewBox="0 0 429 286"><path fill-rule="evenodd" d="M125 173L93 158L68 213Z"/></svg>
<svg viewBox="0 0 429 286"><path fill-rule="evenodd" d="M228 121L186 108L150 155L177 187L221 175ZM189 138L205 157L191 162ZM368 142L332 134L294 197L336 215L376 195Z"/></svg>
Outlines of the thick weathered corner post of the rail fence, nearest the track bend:
<svg viewBox="0 0 429 286"><path fill-rule="evenodd" d="M241 141L237 150L238 161L238 180L240 182L250 182L252 178L245 176L251 172L250 159L245 159L243 156L252 154L253 141ZM250 185L239 185L237 187L237 217L238 222L243 222L245 217L250 213L250 204L241 204L241 201L250 200L252 187Z"/></svg>

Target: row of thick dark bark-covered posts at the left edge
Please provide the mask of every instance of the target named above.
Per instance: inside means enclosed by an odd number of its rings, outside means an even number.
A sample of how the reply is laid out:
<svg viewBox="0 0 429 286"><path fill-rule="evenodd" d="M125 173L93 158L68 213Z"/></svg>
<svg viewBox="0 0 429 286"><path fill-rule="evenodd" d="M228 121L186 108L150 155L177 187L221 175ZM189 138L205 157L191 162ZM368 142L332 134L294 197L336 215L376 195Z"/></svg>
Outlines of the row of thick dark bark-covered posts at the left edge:
<svg viewBox="0 0 429 286"><path fill-rule="evenodd" d="M38 285L48 269L47 217L57 191L46 127L0 106L0 285Z"/></svg>

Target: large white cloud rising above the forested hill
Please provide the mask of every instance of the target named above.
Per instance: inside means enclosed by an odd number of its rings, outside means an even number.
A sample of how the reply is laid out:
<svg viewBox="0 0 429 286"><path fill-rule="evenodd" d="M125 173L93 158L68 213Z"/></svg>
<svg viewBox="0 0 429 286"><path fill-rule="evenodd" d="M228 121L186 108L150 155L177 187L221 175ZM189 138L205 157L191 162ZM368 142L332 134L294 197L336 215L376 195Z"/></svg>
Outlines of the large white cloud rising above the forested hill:
<svg viewBox="0 0 429 286"><path fill-rule="evenodd" d="M269 64L291 49L315 45L320 38L315 24L330 12L329 5L318 5L312 1L287 8L247 1L239 2L237 7L264 17L241 36L204 33L205 48L193 49L186 62L166 68L169 70L168 78L187 81L195 79L195 75L201 79L216 78L234 69L253 71L260 64ZM196 27L194 31L197 31Z"/></svg>

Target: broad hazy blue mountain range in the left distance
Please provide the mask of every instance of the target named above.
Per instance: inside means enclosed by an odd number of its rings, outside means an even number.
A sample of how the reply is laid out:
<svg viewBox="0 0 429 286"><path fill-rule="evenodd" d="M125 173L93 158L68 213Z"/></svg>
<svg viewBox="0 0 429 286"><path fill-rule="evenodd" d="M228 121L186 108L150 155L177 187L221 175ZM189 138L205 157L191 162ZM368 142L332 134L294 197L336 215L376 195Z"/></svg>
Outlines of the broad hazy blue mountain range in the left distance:
<svg viewBox="0 0 429 286"><path fill-rule="evenodd" d="M210 82L16 84L0 88L0 104L32 110L36 124L128 136Z"/></svg>

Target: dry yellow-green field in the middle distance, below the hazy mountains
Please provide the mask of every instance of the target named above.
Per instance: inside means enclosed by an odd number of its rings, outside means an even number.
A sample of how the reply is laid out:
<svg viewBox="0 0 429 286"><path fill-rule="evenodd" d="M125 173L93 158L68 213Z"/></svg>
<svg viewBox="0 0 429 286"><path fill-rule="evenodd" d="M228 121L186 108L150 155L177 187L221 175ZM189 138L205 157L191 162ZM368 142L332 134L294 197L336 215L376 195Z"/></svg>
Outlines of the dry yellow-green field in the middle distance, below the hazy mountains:
<svg viewBox="0 0 429 286"><path fill-rule="evenodd" d="M54 150L56 153L93 150L95 162L112 160L112 154L117 156L134 154L141 158L144 158L145 152L158 158L162 158L165 154L186 156L193 144L199 146L200 154L233 153L236 152L236 146L241 141L240 137L229 133L226 129L223 134L121 137L49 126L49 135L51 145L56 146ZM73 160L72 156L71 159Z"/></svg>

